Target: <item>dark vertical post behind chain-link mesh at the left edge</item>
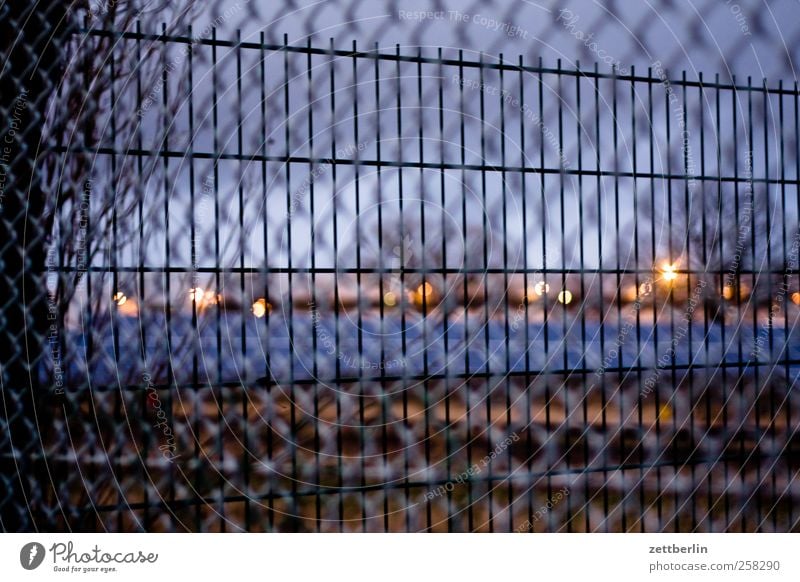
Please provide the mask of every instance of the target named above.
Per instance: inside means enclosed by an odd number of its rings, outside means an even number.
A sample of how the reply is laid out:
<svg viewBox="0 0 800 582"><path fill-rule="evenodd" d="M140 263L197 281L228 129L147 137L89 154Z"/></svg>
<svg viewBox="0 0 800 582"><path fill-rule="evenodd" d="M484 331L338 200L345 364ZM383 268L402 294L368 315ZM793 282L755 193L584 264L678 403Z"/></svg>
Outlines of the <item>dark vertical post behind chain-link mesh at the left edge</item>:
<svg viewBox="0 0 800 582"><path fill-rule="evenodd" d="M0 528L49 529L38 406L47 346L48 228L41 156L46 107L62 69L68 32L61 2L0 6ZM41 158L39 158L41 159Z"/></svg>

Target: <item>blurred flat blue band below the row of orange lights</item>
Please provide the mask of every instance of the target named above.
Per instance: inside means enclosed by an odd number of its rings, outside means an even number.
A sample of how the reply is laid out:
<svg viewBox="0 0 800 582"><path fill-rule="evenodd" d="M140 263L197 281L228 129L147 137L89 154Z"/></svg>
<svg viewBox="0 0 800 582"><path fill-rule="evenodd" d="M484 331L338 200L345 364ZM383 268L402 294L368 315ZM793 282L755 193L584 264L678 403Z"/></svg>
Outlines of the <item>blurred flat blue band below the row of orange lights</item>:
<svg viewBox="0 0 800 582"><path fill-rule="evenodd" d="M269 375L291 383L800 360L800 341L793 338L791 326L787 341L782 318L771 330L761 324L754 329L752 323L706 328L700 321L688 326L678 317L672 325L668 318L653 325L642 317L638 326L634 320L618 325L613 319L601 324L570 318L565 323L553 316L547 323L526 325L512 318L507 334L504 320L484 325L482 317L472 314L466 321L451 317L446 326L440 318L417 313L407 314L403 325L398 312L387 313L383 320L377 314L362 314L360 322L342 313L338 325L333 314L314 319L307 311L262 319L249 313L205 314L197 326L183 314L173 314L169 324L163 314L119 317L113 324L94 326L99 331L91 351L85 334L67 330L68 349L61 366L67 386L81 384L87 376L94 386L108 386L140 384L144 372L153 381L165 382L168 364L179 384L216 384L252 383ZM773 368L786 370L783 364L760 369ZM799 369L792 366L788 372L793 376ZM752 367L748 373L753 373Z"/></svg>

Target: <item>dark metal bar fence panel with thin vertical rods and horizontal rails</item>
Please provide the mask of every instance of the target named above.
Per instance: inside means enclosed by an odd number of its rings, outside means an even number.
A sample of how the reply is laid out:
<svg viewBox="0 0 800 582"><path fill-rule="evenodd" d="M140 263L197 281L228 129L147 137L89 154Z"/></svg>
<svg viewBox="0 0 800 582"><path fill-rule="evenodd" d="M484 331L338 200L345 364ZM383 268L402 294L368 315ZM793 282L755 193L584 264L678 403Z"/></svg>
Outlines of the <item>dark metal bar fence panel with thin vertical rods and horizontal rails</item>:
<svg viewBox="0 0 800 582"><path fill-rule="evenodd" d="M27 527L797 530L796 84L69 44Z"/></svg>

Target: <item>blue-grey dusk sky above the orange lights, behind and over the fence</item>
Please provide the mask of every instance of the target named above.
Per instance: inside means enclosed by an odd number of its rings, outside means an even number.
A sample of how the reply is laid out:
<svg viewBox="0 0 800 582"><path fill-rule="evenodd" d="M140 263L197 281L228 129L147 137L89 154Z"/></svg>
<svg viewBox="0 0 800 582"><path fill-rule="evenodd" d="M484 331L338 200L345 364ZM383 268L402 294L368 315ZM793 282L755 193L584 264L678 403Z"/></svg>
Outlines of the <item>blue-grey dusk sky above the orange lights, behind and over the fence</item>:
<svg viewBox="0 0 800 582"><path fill-rule="evenodd" d="M458 51L463 51L466 60L482 58L491 62L502 54L505 61L516 63L518 56L522 55L526 64L537 64L541 58L545 67L555 67L558 59L561 59L564 69L574 69L576 61L581 62L582 68L591 69L597 62L601 72L609 71L611 64L623 74L629 73L631 67L636 67L637 74L645 74L647 68L651 67L653 75L661 76L663 73L673 80L680 79L685 71L689 80L698 78L700 73L703 73L705 80L713 80L719 74L721 80L725 81L735 75L737 85L746 84L747 76L753 77L754 85L760 85L761 78L766 77L768 85L775 87L780 80L787 86L794 83L794 59L800 51L798 15L800 5L787 0L769 4L744 0L605 3L585 0L564 3L526 0L504 3L228 0L201 14L192 22L192 26L194 35L210 36L210 25L214 23L217 25L217 38L220 39L235 39L236 29L241 27L242 40L245 42L259 41L262 32L268 42L282 42L285 33L291 45L304 45L310 39L312 45L324 48L329 46L329 39L333 38L339 49L351 47L355 40L361 50L371 50L377 43L380 52L393 52L395 45L399 44L401 53L406 55L420 51L425 56L436 56L438 49L442 48L445 57L457 56ZM633 94L629 85L616 84L619 95L616 95L615 122L615 84L610 80L596 87L591 80L572 77L569 78L569 84L559 85L555 75L545 75L544 78L533 74L522 77L506 75L501 79L496 71L487 71L481 86L475 69L464 72L462 76L457 67L440 70L436 66L426 65L420 71L413 63L404 63L397 69L394 63L385 62L376 71L374 62L364 59L354 72L351 59L342 57L331 65L327 57L314 57L311 62L312 79L309 81L306 55L292 55L285 61L282 52L269 51L265 57L268 119L264 122L261 117L260 57L258 50L242 51L240 66L243 73L239 87L236 83L235 52L224 48L218 50L217 147L224 152L236 153L241 135L245 155L266 152L270 155L289 153L300 157L325 158L339 154L336 157L353 158L358 155L363 160L375 160L378 153L377 130L380 128L383 160L413 162L421 159L457 164L463 150L467 164L484 161L500 165L505 156L505 164L512 166L539 166L543 161L546 168L557 169L564 164L570 169L595 169L599 162L601 170L671 171L674 174L681 172L686 153L680 139L676 138L678 124L685 117L694 173L705 171L708 175L729 175L734 168L738 168L740 175L747 170L755 177L778 176L781 171L778 164L781 159L779 147L781 142L785 142L785 177L796 177L793 153L796 136L791 130L795 122L794 109L788 101L783 104L786 112L784 125L780 126L780 100L765 100L760 96L754 98L753 116L758 131L753 135L753 142L747 143L749 119L744 117L744 112L748 104L743 103L741 97L734 104L730 94L723 95L720 105L723 127L717 135L713 123L716 109L712 96L708 92L703 95L699 91L684 92L667 84L655 85L652 118L649 117L647 84L637 84ZM196 131L192 145L196 151L210 152L214 148L210 59L209 47L196 48L192 87ZM284 70L287 62L288 91L285 90ZM185 59L181 64L186 64ZM330 85L331 66L335 72L333 86ZM155 67L158 67L157 61ZM380 77L377 83L376 73ZM172 75L173 79L178 77ZM380 85L380 102L375 99L376 84ZM420 84L422 98L418 95ZM540 85L543 87L541 117L538 116L540 102L537 96ZM402 94L401 106L396 102L398 86ZM443 94L442 130L439 125L440 86ZM521 89L525 95L524 104L517 99ZM576 103L579 89L583 95L580 115ZM170 86L170 91L174 95L177 86ZM671 91L679 101L686 99L685 112L682 103L676 107L670 101ZM333 112L332 97L336 104ZM160 94L156 98L160 99ZM239 100L242 104L241 124L237 116ZM482 100L485 110L483 120L480 119ZM360 130L358 138L354 132L356 102ZM559 107L562 110L562 129L559 129ZM289 111L288 117L285 116L286 109ZM398 110L401 111L402 128L396 124ZM313 119L313 148L309 140L312 135L309 131L309 113ZM159 115L156 103L143 116L142 126L146 133L159 127ZM599 127L595 123L597 118L600 120ZM737 125L735 131L731 129L734 118ZM463 144L460 137L462 121L465 124ZM633 121L636 124L635 133ZM170 148L188 148L187 102L179 105L172 122ZM671 126L670 140L666 138L668 124ZM768 126L766 139L760 130L765 125ZM655 149L652 167L649 161L650 128ZM420 132L422 139L419 138ZM545 134L543 139L540 133ZM613 147L615 133L616 149ZM735 150L734 134L739 140ZM336 148L333 147L334 138ZM719 166L715 153L718 144L722 151ZM158 144L153 145L156 147ZM750 155L749 151L753 154ZM701 164L703 160L705 164ZM170 207L174 213L169 235L173 265L188 265L191 258L186 236L192 216L187 204L190 163L186 158L170 163L170 172L175 176L171 182L174 188L169 193ZM632 266L636 262L631 245L635 230L638 230L641 247L639 266L652 264L653 261L672 260L683 254L680 242L678 248L672 251L672 256L666 256L669 253L665 250L670 237L681 238L680 233L686 222L683 210L686 185L682 183L673 182L670 191L667 181L656 181L652 185L648 181L634 184L630 179L615 182L603 178L598 182L593 178L579 181L575 177L568 177L562 181L556 174L548 176L542 183L538 176L528 175L524 180L526 209L523 214L523 180L513 173L502 176L497 172L489 172L483 176L475 172L462 175L459 171L448 171L442 177L437 170L420 172L409 169L400 172L385 169L379 179L374 167L360 167L356 179L353 167L343 166L337 169L336 194L332 196L334 176L330 166L321 165L314 170L307 164L292 164L291 176L287 177L285 166L269 164L266 169L265 208L261 164L246 164L242 170L237 163L223 161L219 164L217 183L214 184L210 162L203 160L193 163L196 196L193 214L200 249L196 258L201 266L213 264L211 243L217 228L222 233L223 264L238 264L239 255L244 253L247 266L262 266L264 221L268 223L270 264L286 265L287 213L292 215L293 265L310 266L312 192L315 202L313 223L317 237L313 250L317 266L333 264L334 208L338 216L339 235L336 242L340 266L355 266L353 245L357 240L363 245L362 258L367 262L378 262L380 250L376 250L377 245L372 244L376 242L376 210L378 207L382 209L386 236L391 238L392 231L399 229L401 174L405 210L407 215L411 214L405 226L411 230L411 244L416 247L415 260L430 256L435 263L438 259L429 247L443 236L435 225L431 226L427 229L428 240L423 245L420 229L420 210L423 206L427 207L428 221L445 224L444 236L452 243L448 266L456 266L452 263L453 258L463 256L465 247L472 249L470 245L476 244L475 233L482 232L484 215L488 216L493 235L487 261L490 265L504 264L506 259L503 255L507 246L512 259L517 257L517 260L506 262L506 266L540 268L545 266L544 246L547 245L546 262L549 267ZM158 164L154 167L158 169ZM314 179L309 180L312 174ZM238 225L239 178L242 176L244 229ZM313 188L310 187L311 182ZM157 173L148 180L151 192L149 199L154 208L162 207L160 200L164 193L161 184ZM707 221L710 232L735 235L735 224L732 222L735 217L728 216L720 223L704 214L707 206L713 206L706 199L707 186L709 184L702 181L689 186L688 221L694 224ZM711 186L715 190L713 183ZM445 197L443 210L430 206L439 203L442 188ZM360 214L356 213L357 189ZM655 190L652 196L655 209L648 208L651 189ZM763 188L758 192L762 193ZM732 199L733 192L727 186L722 194L727 200ZM740 192L740 196L745 194ZM379 196L381 204L378 204ZM466 232L462 228L460 214L463 196L468 199ZM633 213L634 196L637 196L639 203L638 217ZM671 206L668 205L670 197ZM213 217L215 200L220 211L218 224ZM425 200L425 203L421 200ZM771 211L775 217L783 216L788 217L789 221L796 221L798 209L794 204L780 204L771 208ZM579 222L581 215L582 223ZM360 236L354 232L356 216L359 216L358 225L362 228ZM620 217L619 221L616 220L617 216ZM130 218L134 220L133 216ZM776 221L775 224L780 223ZM148 249L152 250L154 262L159 264L165 260L161 256L161 249L164 248L167 234L157 223L152 224L152 229ZM650 233L653 231L658 247L656 256L652 255L650 248ZM622 256L618 257L617 242L620 240L619 253ZM396 244L396 241L392 244ZM480 250L480 245L475 248ZM384 259L387 249L382 251ZM527 262L520 258L523 249L528 250ZM481 266L480 253L472 251L467 253L468 258L476 261L473 266ZM779 258L779 255L776 257ZM688 259L684 257L684 260Z"/></svg>

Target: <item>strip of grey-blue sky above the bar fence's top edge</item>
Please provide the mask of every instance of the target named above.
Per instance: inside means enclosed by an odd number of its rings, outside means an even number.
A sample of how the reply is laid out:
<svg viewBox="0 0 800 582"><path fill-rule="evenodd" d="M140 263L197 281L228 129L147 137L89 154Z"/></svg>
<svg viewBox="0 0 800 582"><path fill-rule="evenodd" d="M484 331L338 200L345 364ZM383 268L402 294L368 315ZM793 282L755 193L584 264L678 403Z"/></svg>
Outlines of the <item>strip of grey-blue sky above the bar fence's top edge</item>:
<svg viewBox="0 0 800 582"><path fill-rule="evenodd" d="M244 6L244 0L226 0L219 11L238 2ZM618 61L623 67L647 67L660 60L690 76L702 71L787 81L796 77L800 54L800 7L795 0L251 0L248 4L248 17L232 18L228 27L241 26L245 37L263 30L273 40L287 33L292 43L312 35L323 42L333 37L341 46L355 39L366 47L375 42L383 48L395 43L455 47L488 55L502 52L513 60L520 54L533 62L539 57L561 58L565 64L581 60L589 66L595 61ZM567 20L572 26L565 26Z"/></svg>

